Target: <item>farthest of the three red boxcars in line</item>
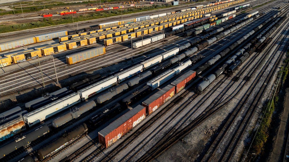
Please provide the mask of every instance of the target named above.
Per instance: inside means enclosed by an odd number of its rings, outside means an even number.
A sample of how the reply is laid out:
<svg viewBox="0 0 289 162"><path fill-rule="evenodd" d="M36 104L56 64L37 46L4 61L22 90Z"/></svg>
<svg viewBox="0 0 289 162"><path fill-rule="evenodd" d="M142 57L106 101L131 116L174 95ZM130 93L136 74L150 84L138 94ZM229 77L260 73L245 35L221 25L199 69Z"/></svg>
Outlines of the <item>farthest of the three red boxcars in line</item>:
<svg viewBox="0 0 289 162"><path fill-rule="evenodd" d="M175 93L178 93L182 89L186 87L186 84L188 84L194 77L196 76L196 71L188 71L184 75L177 78L175 81L173 81L171 84L175 86Z"/></svg>

